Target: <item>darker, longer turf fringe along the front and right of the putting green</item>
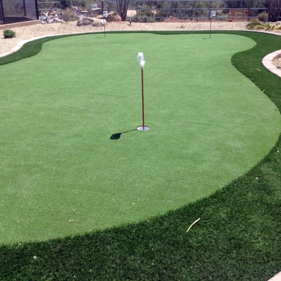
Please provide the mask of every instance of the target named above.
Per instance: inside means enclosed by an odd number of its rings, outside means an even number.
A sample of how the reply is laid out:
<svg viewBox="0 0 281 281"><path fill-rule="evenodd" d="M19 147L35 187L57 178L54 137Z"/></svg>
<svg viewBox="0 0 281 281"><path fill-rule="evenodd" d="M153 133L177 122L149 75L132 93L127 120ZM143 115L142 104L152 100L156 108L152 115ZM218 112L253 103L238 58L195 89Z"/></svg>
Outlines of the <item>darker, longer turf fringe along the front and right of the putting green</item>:
<svg viewBox="0 0 281 281"><path fill-rule="evenodd" d="M280 108L280 78L261 60L281 38L236 33L257 45L232 63ZM280 271L279 147L280 139L248 173L166 215L73 238L3 245L0 280L267 280Z"/></svg>

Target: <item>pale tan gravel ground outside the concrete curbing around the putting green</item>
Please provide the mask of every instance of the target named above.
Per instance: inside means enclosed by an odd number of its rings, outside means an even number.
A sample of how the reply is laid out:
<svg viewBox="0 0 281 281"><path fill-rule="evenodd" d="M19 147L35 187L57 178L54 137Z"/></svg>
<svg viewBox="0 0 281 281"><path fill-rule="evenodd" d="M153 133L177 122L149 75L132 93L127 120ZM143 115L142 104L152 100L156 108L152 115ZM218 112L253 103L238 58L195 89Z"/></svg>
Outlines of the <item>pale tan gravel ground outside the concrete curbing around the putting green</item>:
<svg viewBox="0 0 281 281"><path fill-rule="evenodd" d="M212 30L245 30L247 22L228 22L228 21L212 21ZM175 19L174 22L162 23L107 23L106 31L117 30L209 30L209 21L180 21ZM81 26L78 27L75 22L69 23L53 23L49 25L31 25L27 27L14 27L16 32L15 38L5 39L0 38L0 54L12 49L17 43L38 36L53 35L53 34L71 34L84 32L102 32L103 27ZM2 30L0 31L2 32ZM2 34L3 36L3 34ZM281 66L281 61L274 62L276 66Z"/></svg>

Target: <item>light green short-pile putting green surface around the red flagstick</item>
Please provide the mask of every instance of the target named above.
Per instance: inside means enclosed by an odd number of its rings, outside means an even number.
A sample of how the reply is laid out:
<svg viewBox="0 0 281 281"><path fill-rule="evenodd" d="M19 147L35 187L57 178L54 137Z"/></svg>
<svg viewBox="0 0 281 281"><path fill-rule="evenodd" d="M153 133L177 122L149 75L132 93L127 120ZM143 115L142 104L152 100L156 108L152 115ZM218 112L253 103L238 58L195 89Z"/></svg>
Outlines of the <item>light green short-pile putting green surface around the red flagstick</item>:
<svg viewBox="0 0 281 281"><path fill-rule="evenodd" d="M91 34L1 66L0 242L148 219L249 170L280 132L276 106L230 62L254 45L226 34ZM134 130L138 51L148 132Z"/></svg>

